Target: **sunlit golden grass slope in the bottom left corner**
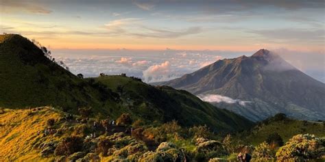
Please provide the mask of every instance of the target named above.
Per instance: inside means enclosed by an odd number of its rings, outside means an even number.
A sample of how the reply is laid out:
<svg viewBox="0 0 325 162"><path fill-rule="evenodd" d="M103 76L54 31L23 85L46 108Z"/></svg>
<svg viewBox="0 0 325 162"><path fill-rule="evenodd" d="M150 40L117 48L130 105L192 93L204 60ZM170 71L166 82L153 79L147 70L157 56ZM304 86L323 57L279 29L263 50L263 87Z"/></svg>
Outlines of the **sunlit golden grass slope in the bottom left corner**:
<svg viewBox="0 0 325 162"><path fill-rule="evenodd" d="M39 151L33 148L43 135L38 135L38 131L45 129L49 118L58 120L60 114L50 107L43 107L39 111L6 109L5 113L0 114L0 161L49 161L40 157Z"/></svg>

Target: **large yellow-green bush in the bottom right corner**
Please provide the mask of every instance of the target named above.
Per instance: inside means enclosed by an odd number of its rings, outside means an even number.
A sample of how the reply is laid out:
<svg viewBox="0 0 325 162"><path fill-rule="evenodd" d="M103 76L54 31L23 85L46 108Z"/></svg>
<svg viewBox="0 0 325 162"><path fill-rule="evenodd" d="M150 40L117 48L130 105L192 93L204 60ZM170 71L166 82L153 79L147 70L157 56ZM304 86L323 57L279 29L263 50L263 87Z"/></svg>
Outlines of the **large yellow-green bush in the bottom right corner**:
<svg viewBox="0 0 325 162"><path fill-rule="evenodd" d="M276 152L278 161L317 159L325 152L325 141L315 135L295 135Z"/></svg>

